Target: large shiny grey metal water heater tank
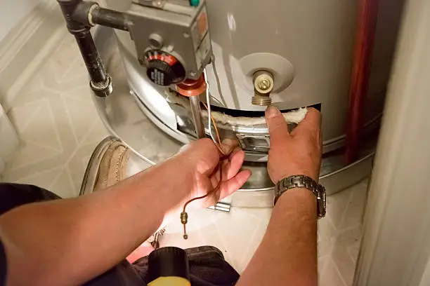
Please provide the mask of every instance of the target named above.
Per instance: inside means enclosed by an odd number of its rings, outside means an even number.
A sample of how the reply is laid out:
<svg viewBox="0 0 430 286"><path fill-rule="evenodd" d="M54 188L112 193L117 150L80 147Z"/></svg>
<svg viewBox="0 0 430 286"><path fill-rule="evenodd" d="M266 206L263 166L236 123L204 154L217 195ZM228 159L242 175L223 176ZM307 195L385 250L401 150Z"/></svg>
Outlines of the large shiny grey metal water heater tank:
<svg viewBox="0 0 430 286"><path fill-rule="evenodd" d="M108 8L130 12L139 1L106 2ZM246 118L259 118L265 110L265 107L252 104L256 71L267 71L273 76L271 100L281 111L301 107L317 107L322 111L325 153L322 177L330 180L332 176L331 183L337 185L332 188L334 191L367 175L374 133L377 133L383 111L402 6L403 0L379 1L369 89L363 111L364 139L360 144L360 159L348 166L342 148L346 138L358 0L207 0L213 49L211 64L206 69L211 105L214 112L232 119L221 125L222 135L240 139L247 154L247 164L254 168L254 179L245 185L245 190L272 187L264 171L268 151L266 125L246 124ZM138 63L129 33L115 31L115 34L122 57L121 69L125 71L131 95L139 109L163 132L181 143L189 142L195 137L195 130L187 99L177 96L174 90L150 83L145 67ZM101 41L100 36L98 38ZM205 98L201 100L204 102ZM136 138L131 139L133 131L124 131L124 122L122 125L118 123L112 118L115 111L108 110L117 108L119 103L96 102L108 128L145 157L145 139L141 143ZM109 104L112 107L108 107ZM120 127L123 131L117 130ZM173 146L171 144L169 146ZM157 160L149 161L157 163ZM358 163L363 162L365 167L357 168ZM354 175L335 177L340 172L347 172L348 167ZM333 191L329 188L328 192Z"/></svg>

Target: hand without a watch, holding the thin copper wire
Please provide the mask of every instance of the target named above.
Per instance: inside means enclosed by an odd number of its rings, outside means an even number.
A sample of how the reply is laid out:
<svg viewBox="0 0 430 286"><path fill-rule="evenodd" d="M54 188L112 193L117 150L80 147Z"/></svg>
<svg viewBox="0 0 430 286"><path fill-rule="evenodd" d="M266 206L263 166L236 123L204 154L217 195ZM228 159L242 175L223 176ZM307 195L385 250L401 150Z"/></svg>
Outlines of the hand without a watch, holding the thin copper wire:
<svg viewBox="0 0 430 286"><path fill-rule="evenodd" d="M193 205L209 207L215 205L219 200L230 196L240 189L251 176L250 170L242 170L245 152L237 147L237 141L225 139L221 149L225 156L220 153L211 139L200 139L186 145L178 154L184 163L193 166L193 189L187 200L206 195L219 184L219 163L222 160L221 185L215 193L202 200L195 200Z"/></svg>

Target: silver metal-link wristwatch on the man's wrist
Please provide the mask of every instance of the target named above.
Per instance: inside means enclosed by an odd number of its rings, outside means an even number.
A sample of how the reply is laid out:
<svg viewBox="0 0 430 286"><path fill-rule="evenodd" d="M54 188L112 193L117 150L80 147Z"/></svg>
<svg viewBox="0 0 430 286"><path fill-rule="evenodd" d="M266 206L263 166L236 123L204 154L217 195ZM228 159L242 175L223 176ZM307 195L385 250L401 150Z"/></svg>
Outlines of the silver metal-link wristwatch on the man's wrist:
<svg viewBox="0 0 430 286"><path fill-rule="evenodd" d="M325 217L327 207L325 187L304 175L296 175L281 179L275 186L275 204L282 193L294 188L306 188L311 191L317 198L318 219Z"/></svg>

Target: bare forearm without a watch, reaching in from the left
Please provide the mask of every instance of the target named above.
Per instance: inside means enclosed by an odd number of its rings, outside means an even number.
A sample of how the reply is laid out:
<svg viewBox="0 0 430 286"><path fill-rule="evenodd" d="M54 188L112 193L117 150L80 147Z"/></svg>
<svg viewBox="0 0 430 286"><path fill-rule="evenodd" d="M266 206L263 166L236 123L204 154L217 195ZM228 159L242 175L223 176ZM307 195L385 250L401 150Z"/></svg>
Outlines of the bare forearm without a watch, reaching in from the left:
<svg viewBox="0 0 430 286"><path fill-rule="evenodd" d="M192 175L174 158L105 191L4 214L10 285L78 285L112 268L174 215Z"/></svg>

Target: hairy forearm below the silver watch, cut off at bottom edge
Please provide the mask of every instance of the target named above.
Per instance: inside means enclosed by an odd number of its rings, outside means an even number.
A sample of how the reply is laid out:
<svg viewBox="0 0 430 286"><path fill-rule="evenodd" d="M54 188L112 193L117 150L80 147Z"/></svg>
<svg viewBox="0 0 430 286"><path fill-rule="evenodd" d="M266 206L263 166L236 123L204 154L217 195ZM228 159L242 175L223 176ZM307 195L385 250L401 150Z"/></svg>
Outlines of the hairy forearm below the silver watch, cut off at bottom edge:
<svg viewBox="0 0 430 286"><path fill-rule="evenodd" d="M307 189L287 191L237 285L317 285L316 231L315 196Z"/></svg>

